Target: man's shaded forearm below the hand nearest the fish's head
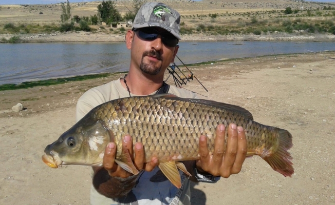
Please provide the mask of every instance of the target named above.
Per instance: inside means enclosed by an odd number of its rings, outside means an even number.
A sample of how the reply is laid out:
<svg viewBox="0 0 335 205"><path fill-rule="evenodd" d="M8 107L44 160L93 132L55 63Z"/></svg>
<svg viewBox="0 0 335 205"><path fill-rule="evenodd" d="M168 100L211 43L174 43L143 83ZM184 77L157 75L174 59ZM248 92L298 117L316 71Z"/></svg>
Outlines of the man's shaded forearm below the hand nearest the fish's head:
<svg viewBox="0 0 335 205"><path fill-rule="evenodd" d="M138 175L127 178L111 177L105 169L99 169L93 176L93 186L102 195L108 198L125 196L136 185Z"/></svg>

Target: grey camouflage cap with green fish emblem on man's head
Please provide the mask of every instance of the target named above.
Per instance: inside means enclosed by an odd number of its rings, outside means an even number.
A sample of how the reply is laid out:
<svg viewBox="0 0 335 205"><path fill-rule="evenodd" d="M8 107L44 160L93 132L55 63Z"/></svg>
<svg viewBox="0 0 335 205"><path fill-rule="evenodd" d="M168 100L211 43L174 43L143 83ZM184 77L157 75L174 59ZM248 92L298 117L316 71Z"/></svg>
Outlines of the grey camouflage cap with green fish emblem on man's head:
<svg viewBox="0 0 335 205"><path fill-rule="evenodd" d="M151 2L143 4L134 19L133 28L160 27L169 31L179 40L180 14L163 3Z"/></svg>

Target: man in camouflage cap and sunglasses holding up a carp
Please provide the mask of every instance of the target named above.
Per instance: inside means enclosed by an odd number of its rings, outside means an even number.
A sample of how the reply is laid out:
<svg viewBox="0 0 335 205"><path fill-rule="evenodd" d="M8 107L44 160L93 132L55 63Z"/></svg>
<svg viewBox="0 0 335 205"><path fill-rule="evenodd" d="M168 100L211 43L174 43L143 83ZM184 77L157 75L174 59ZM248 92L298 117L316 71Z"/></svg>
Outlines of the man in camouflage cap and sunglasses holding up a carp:
<svg viewBox="0 0 335 205"><path fill-rule="evenodd" d="M92 88L79 99L77 121L92 108L106 101L139 95L166 93L184 97L197 96L184 89L163 83L164 72L174 62L179 46L180 15L162 3L146 3L137 13L133 29L127 31L126 46L131 50L129 72L124 78ZM246 157L247 142L241 127L228 128L227 151L225 126L216 131L214 154L207 149L206 136L199 140L200 160L184 161L192 174L191 180L216 182L219 177L229 177L240 171ZM190 204L190 180L180 171L182 186L177 189L157 167L158 159L145 162L143 145L133 146L132 138L124 136L123 146L133 156L134 165L141 171L138 175L123 170L114 162L116 146L110 142L103 157L103 167L94 168L91 188L91 204Z"/></svg>

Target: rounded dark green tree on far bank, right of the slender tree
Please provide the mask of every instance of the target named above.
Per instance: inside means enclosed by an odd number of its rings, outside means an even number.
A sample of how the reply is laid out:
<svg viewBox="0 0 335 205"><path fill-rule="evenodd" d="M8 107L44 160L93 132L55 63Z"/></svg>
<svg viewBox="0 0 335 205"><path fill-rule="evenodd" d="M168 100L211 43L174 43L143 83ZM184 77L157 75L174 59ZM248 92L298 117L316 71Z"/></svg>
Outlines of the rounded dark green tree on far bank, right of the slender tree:
<svg viewBox="0 0 335 205"><path fill-rule="evenodd" d="M107 0L98 5L98 12L103 22L110 24L112 22L122 21L120 12L116 9L114 2Z"/></svg>

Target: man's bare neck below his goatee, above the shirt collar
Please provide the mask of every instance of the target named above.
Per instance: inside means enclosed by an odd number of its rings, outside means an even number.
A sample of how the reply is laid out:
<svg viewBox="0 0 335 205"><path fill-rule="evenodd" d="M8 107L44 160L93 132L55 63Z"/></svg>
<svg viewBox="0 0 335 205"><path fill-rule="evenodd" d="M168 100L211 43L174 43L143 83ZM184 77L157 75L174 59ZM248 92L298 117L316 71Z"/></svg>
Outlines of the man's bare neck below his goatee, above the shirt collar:
<svg viewBox="0 0 335 205"><path fill-rule="evenodd" d="M142 72L129 70L125 77L126 83L121 79L121 85L135 95L150 95L161 88L163 84L163 76L146 76Z"/></svg>

